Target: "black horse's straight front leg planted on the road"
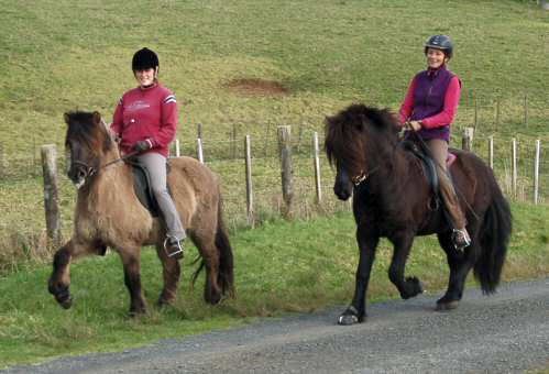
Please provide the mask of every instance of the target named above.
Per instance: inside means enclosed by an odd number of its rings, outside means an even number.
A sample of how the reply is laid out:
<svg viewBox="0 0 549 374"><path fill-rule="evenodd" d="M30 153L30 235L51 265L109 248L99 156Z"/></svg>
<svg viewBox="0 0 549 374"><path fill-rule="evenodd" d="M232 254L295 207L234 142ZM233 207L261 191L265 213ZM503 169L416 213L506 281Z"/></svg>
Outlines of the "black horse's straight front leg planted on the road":
<svg viewBox="0 0 549 374"><path fill-rule="evenodd" d="M380 238L374 234L366 233L365 230L356 230L356 241L359 243L360 258L359 267L356 268L356 279L354 296L351 305L339 317L339 324L354 324L362 322L366 316L366 290L370 282L370 273L372 264L375 260L375 250Z"/></svg>

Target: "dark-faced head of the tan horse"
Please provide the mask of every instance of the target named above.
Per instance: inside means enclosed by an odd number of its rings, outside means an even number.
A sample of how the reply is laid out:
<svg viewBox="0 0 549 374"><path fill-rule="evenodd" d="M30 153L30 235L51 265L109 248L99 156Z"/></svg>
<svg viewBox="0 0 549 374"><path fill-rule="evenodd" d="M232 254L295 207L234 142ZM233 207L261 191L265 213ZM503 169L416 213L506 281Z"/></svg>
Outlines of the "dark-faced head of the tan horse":
<svg viewBox="0 0 549 374"><path fill-rule="evenodd" d="M101 165L105 154L113 147L110 133L99 112L67 112L65 147L70 155L68 177L80 188Z"/></svg>

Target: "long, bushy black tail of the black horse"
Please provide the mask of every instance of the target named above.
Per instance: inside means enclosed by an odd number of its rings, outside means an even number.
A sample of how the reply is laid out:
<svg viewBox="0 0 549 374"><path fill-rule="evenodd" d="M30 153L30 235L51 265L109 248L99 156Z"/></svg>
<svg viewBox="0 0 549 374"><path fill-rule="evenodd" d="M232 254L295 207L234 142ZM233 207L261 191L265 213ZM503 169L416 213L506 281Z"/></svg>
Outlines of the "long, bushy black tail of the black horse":
<svg viewBox="0 0 549 374"><path fill-rule="evenodd" d="M482 292L493 294L499 284L512 231L510 208L495 178L492 184L492 202L484 215L480 230L479 240L482 250L473 272Z"/></svg>

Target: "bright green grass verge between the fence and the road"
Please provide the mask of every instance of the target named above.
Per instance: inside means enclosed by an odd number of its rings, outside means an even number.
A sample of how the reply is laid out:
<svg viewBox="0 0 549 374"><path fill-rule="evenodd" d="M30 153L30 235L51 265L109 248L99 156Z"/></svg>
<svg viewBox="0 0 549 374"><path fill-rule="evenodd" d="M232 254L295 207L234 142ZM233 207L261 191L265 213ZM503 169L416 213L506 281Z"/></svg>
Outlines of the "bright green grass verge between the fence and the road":
<svg viewBox="0 0 549 374"><path fill-rule="evenodd" d="M543 228L545 208L513 206L512 237L504 280L549 273L549 239ZM354 222L349 212L311 221L267 221L232 238L235 254L237 297L218 307L201 300L204 277L189 289L191 249L185 260L177 302L147 316L128 317L129 296L116 254L73 264L75 304L63 310L47 293L50 266L20 271L0 280L0 367L48 360L62 354L119 351L150 344L162 338L185 337L248 323L285 312L307 312L349 302L354 287L358 251ZM162 275L152 250L143 252L142 282L150 305L156 300ZM370 301L397 297L386 272L392 250L382 241L370 284ZM407 266L426 289L439 295L448 266L435 238L415 242ZM471 278L472 279L472 278ZM473 286L470 279L469 287Z"/></svg>

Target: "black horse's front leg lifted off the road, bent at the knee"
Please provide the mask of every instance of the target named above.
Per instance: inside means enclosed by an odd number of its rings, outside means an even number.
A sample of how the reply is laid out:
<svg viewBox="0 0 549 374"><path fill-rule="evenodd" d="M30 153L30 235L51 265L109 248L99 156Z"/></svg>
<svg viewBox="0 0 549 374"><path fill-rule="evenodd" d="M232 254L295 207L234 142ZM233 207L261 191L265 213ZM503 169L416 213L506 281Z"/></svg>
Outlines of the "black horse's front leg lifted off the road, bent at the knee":
<svg viewBox="0 0 549 374"><path fill-rule="evenodd" d="M421 283L417 277L404 278L406 261L408 260L414 242L414 233L404 232L395 238L392 238L394 245L393 258L388 268L388 277L400 293L403 299L417 296L424 292Z"/></svg>

